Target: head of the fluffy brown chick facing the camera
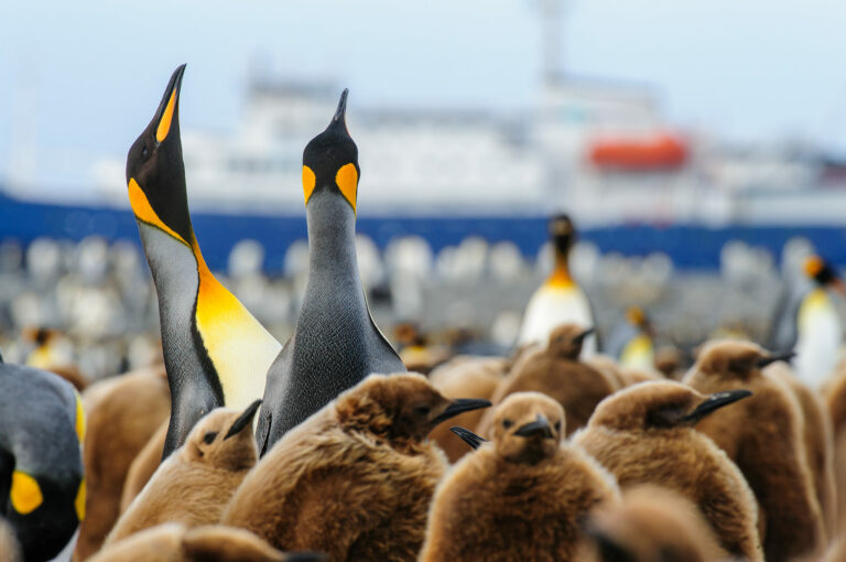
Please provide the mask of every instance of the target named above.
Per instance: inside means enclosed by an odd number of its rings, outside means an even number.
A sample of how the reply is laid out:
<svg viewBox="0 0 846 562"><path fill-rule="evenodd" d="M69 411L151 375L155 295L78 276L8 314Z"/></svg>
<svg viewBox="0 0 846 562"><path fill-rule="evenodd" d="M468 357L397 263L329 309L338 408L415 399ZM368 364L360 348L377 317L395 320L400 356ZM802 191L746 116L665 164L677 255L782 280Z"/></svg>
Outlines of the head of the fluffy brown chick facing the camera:
<svg viewBox="0 0 846 562"><path fill-rule="evenodd" d="M541 392L514 392L494 412L494 446L507 461L535 464L555 454L565 424L556 400Z"/></svg>

